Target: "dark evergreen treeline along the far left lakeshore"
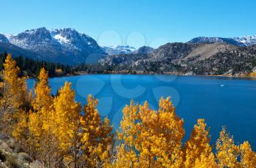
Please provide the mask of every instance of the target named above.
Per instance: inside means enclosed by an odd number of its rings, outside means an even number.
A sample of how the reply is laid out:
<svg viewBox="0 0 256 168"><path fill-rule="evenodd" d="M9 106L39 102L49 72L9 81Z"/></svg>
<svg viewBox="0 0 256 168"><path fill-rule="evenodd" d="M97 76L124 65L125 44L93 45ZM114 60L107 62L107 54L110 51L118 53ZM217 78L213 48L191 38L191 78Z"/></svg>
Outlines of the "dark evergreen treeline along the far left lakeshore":
<svg viewBox="0 0 256 168"><path fill-rule="evenodd" d="M0 53L0 71L3 70L4 60L7 57L7 53ZM44 67L48 71L49 77L58 77L65 75L79 75L80 73L89 74L104 74L113 72L122 72L135 74L137 71L141 72L158 72L158 64L152 64L149 66L138 65L136 67L131 67L127 65L108 65L108 64L79 64L77 66L69 66L59 63L53 63L49 61L36 60L32 58L27 58L25 56L18 56L14 58L17 65L20 67L20 76L25 75L29 77L37 77L39 75L40 69ZM172 66L170 66L172 67Z"/></svg>

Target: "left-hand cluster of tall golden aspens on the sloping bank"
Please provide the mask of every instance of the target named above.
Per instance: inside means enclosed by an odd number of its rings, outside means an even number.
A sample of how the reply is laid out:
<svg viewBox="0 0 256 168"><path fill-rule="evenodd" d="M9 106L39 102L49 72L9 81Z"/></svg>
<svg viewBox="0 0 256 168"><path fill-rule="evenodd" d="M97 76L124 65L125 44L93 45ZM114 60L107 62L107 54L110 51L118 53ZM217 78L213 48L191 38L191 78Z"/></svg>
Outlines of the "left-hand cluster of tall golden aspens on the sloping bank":
<svg viewBox="0 0 256 168"><path fill-rule="evenodd" d="M1 131L15 137L45 167L104 167L110 163L113 130L102 120L97 99L75 102L71 83L51 96L48 73L41 69L34 94L19 77L11 56L4 63L1 83Z"/></svg>

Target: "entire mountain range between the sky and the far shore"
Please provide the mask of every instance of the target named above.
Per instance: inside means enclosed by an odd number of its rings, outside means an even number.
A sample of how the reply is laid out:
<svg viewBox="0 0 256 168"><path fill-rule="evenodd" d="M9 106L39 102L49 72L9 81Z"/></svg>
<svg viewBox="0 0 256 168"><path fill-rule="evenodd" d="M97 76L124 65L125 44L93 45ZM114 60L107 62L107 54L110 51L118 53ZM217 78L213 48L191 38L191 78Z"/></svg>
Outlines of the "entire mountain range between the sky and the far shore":
<svg viewBox="0 0 256 168"><path fill-rule="evenodd" d="M73 28L37 28L17 35L0 34L0 52L12 56L78 65L100 63L118 69L143 72L177 72L223 75L252 72L255 66L256 36L197 37L189 42L151 47L100 47L86 34Z"/></svg>

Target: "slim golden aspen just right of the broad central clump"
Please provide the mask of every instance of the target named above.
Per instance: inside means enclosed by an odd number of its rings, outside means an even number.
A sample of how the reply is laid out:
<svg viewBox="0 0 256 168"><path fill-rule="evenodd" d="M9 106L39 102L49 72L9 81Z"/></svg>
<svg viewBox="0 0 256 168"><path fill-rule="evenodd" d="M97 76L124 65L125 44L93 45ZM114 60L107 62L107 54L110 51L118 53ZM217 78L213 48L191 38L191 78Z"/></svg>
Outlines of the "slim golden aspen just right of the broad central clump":
<svg viewBox="0 0 256 168"><path fill-rule="evenodd" d="M199 159L201 154L208 157L211 153L210 141L209 129L206 129L204 119L198 119L184 147L184 167L193 167L195 159Z"/></svg>

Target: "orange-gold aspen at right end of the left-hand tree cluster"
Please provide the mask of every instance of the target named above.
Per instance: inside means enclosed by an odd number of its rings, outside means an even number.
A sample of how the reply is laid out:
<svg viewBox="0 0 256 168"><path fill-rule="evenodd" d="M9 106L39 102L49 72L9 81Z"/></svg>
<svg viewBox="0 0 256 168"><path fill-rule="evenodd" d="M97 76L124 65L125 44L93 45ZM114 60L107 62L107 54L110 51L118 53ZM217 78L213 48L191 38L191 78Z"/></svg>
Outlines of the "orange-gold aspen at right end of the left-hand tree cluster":
<svg viewBox="0 0 256 168"><path fill-rule="evenodd" d="M112 126L108 118L102 121L97 104L98 100L89 95L87 104L83 107L83 117L80 118L86 167L102 167L109 164L113 145Z"/></svg>

